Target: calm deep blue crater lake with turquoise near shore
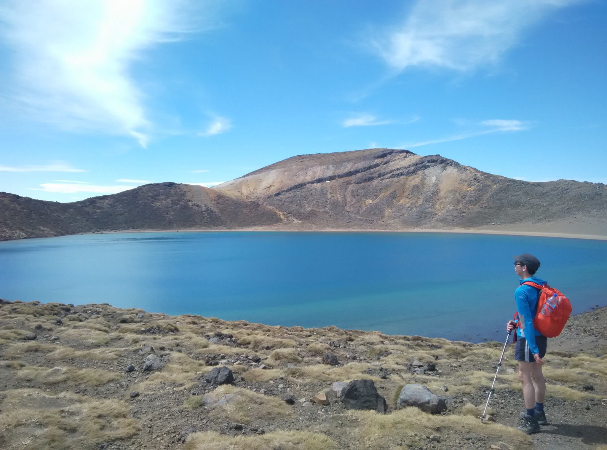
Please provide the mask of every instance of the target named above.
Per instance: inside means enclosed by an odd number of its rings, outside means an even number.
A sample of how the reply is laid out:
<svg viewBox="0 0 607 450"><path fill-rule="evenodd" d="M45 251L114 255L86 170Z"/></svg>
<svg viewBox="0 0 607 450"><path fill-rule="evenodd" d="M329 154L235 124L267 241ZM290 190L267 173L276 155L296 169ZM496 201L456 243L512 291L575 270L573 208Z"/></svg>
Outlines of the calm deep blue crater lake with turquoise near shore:
<svg viewBox="0 0 607 450"><path fill-rule="evenodd" d="M0 298L108 302L270 325L504 338L512 255L579 313L607 304L607 241L455 233L121 233L0 242Z"/></svg>

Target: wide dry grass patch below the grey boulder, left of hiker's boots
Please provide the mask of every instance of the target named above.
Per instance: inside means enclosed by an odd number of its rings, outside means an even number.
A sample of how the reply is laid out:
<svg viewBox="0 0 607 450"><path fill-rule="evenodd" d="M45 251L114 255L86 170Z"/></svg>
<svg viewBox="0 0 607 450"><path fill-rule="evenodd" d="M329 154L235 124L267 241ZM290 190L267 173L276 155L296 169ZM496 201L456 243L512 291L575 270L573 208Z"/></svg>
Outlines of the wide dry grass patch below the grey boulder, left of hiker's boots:
<svg viewBox="0 0 607 450"><path fill-rule="evenodd" d="M478 415L478 409L475 408ZM496 438L513 448L532 448L533 440L515 428L497 423L483 424L478 417L462 415L430 415L416 407L407 407L392 412L392 414L378 414L375 411L351 411L352 417L360 420L356 429L359 437L373 448L389 448L391 445L407 443L410 445L424 445L424 436L440 430L450 433L482 434L489 438ZM417 433L418 435L415 435ZM422 441L420 441L420 437Z"/></svg>

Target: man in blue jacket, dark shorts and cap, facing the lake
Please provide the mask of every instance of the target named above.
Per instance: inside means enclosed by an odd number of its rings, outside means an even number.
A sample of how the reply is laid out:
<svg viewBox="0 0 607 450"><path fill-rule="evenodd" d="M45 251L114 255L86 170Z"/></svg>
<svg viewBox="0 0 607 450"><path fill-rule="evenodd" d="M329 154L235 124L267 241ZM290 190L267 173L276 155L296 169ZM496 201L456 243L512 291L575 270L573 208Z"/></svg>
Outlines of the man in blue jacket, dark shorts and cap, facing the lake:
<svg viewBox="0 0 607 450"><path fill-rule="evenodd" d="M521 285L514 292L518 319L511 320L507 324L508 331L517 329L515 359L518 361L518 379L523 383L523 398L526 408L526 411L521 412L521 421L517 429L527 434L540 432L540 425L548 423L544 413L546 381L541 372L541 366L544 364L541 358L546 355L548 338L535 330L533 324L540 290L523 285L526 281L539 285L546 284L545 281L534 276L538 268L540 268L540 261L532 254L523 253L514 257L514 271L521 278Z"/></svg>

